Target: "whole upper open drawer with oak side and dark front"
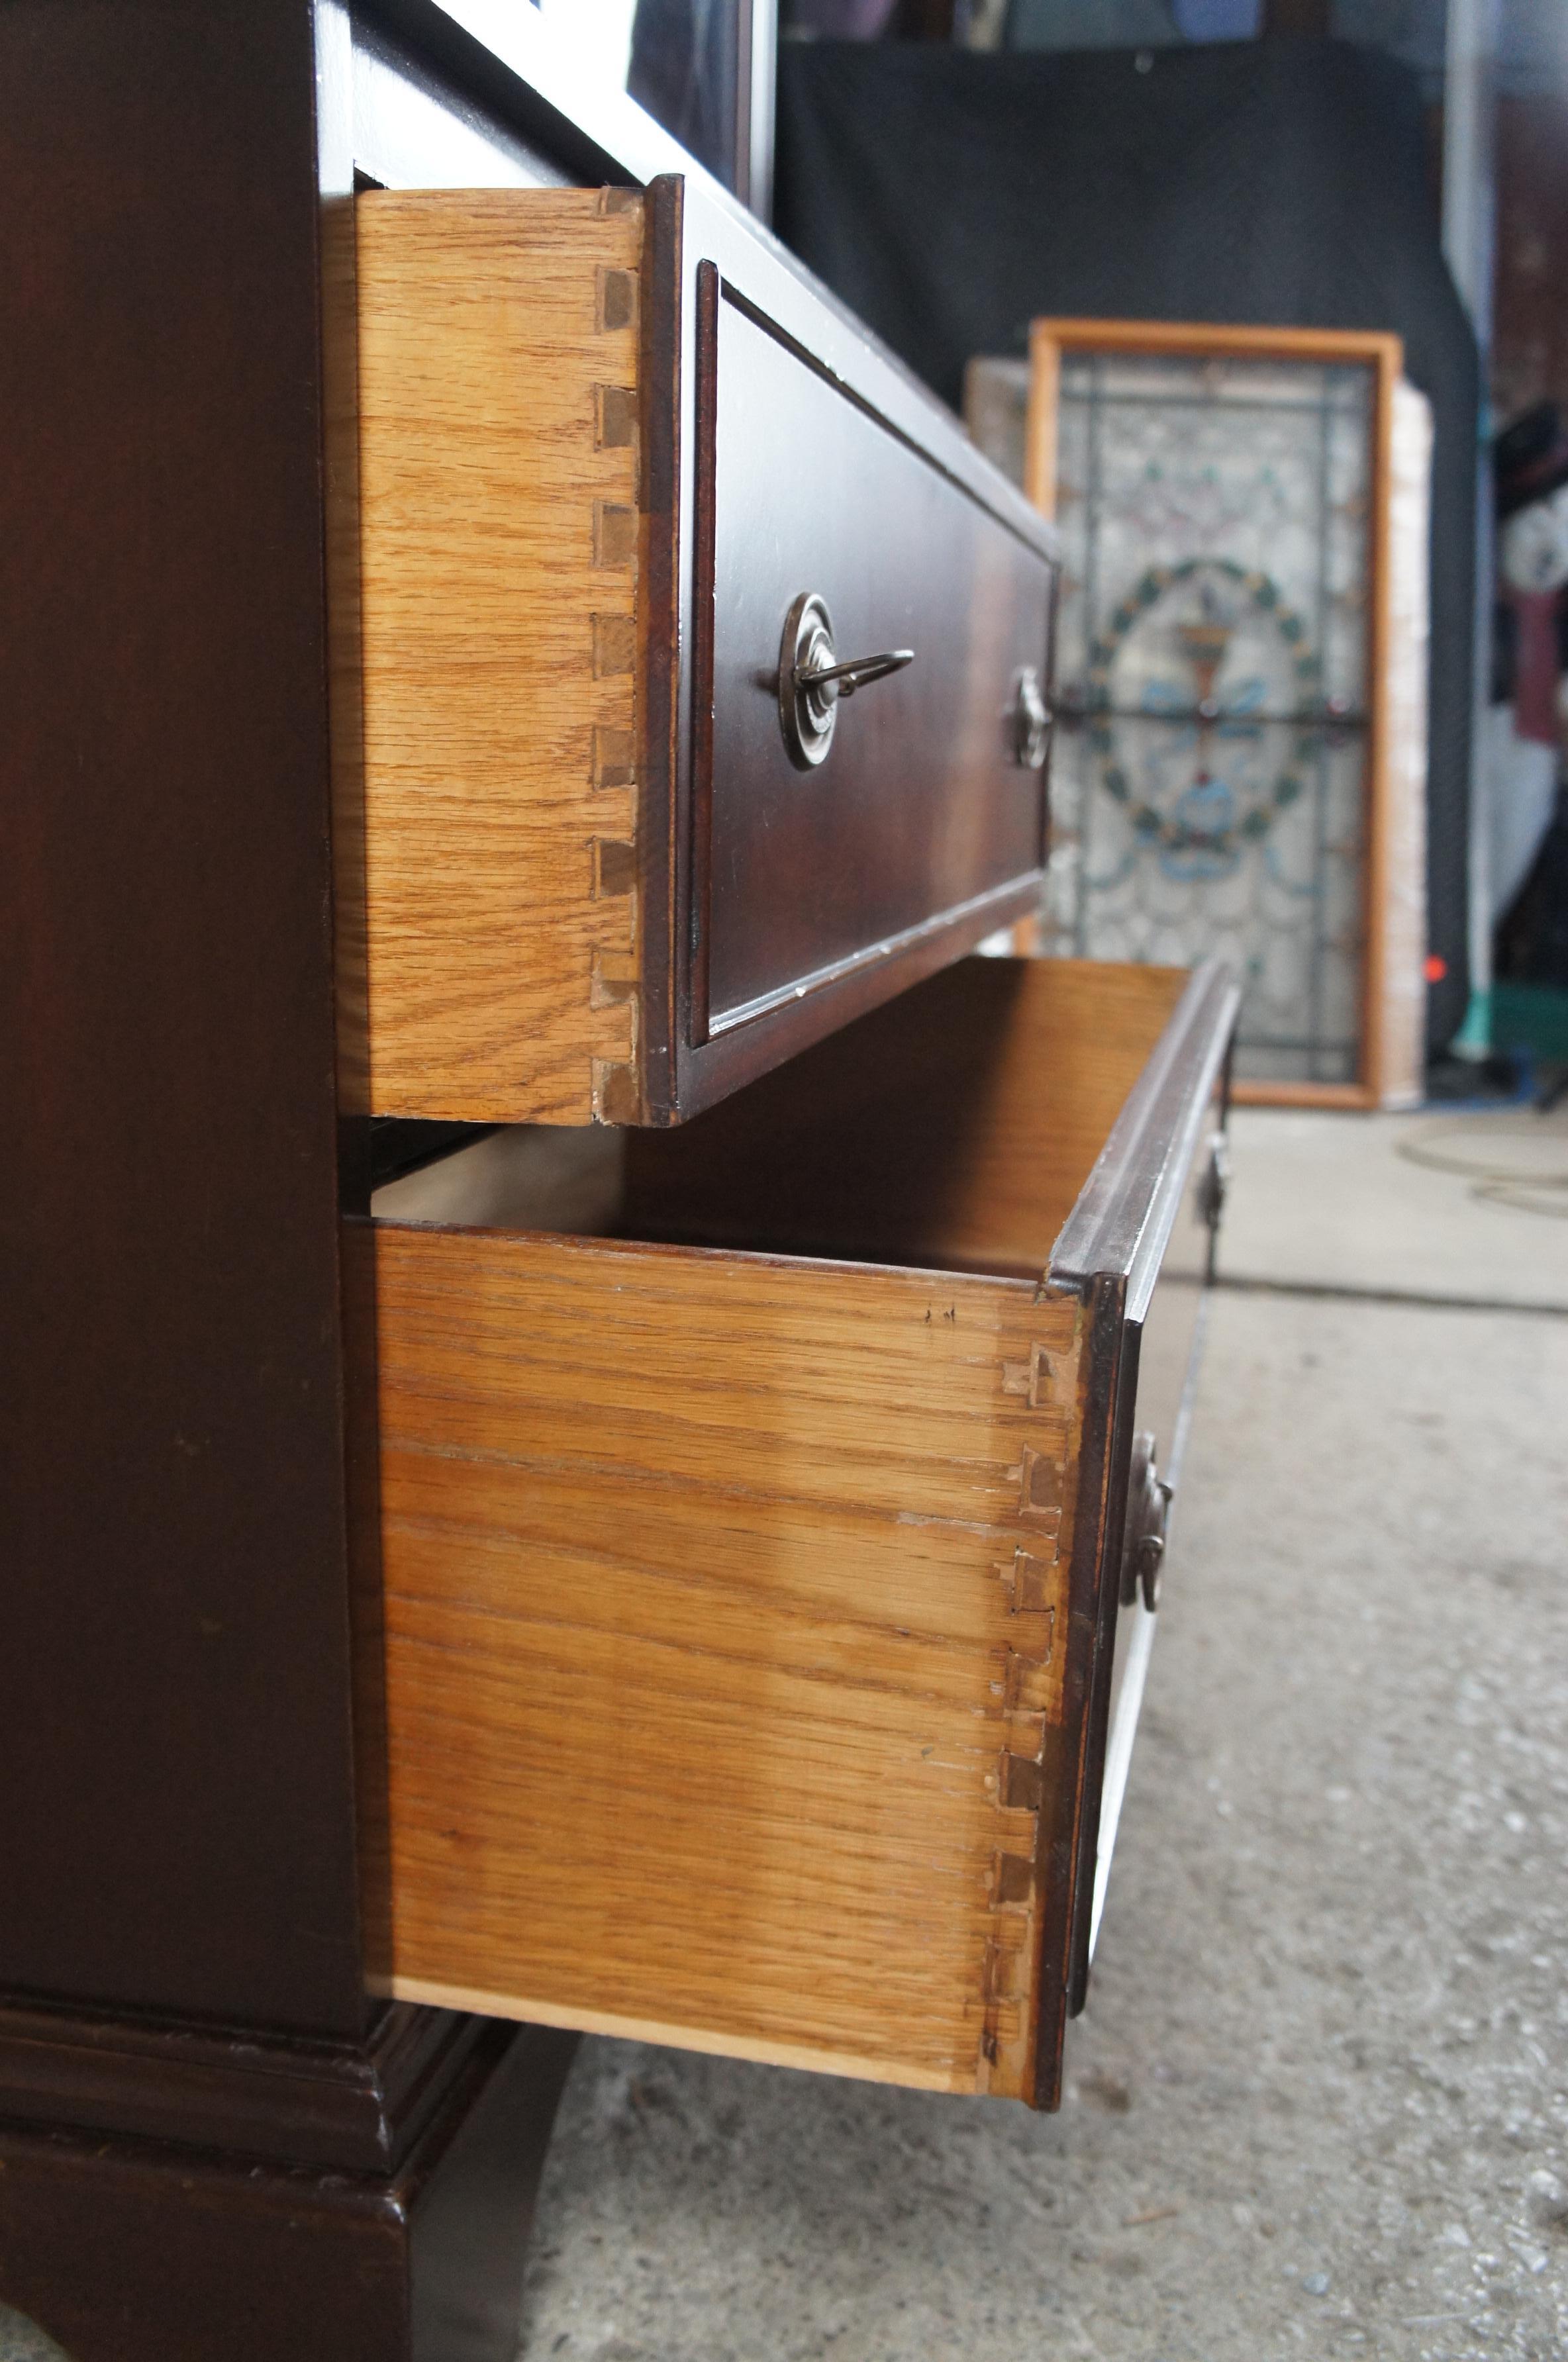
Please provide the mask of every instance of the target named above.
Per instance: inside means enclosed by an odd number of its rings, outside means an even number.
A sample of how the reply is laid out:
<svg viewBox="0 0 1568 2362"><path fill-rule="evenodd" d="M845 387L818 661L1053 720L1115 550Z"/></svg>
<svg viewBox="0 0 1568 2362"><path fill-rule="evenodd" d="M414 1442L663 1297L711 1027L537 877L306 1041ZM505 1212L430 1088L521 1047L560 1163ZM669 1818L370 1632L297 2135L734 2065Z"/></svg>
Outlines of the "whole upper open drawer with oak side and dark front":
<svg viewBox="0 0 1568 2362"><path fill-rule="evenodd" d="M357 243L371 1113L673 1122L1034 902L1051 529L777 248Z"/></svg>

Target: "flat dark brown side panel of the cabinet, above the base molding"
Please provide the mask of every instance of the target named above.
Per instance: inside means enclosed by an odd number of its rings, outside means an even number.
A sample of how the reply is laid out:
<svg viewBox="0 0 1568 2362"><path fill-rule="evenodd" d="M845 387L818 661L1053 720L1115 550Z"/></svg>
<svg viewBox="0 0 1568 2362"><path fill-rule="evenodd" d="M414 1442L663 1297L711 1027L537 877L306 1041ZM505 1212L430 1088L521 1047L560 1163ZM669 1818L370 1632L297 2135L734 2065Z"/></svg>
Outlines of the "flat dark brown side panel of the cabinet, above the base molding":
<svg viewBox="0 0 1568 2362"><path fill-rule="evenodd" d="M0 9L0 1984L352 2041L312 94Z"/></svg>

